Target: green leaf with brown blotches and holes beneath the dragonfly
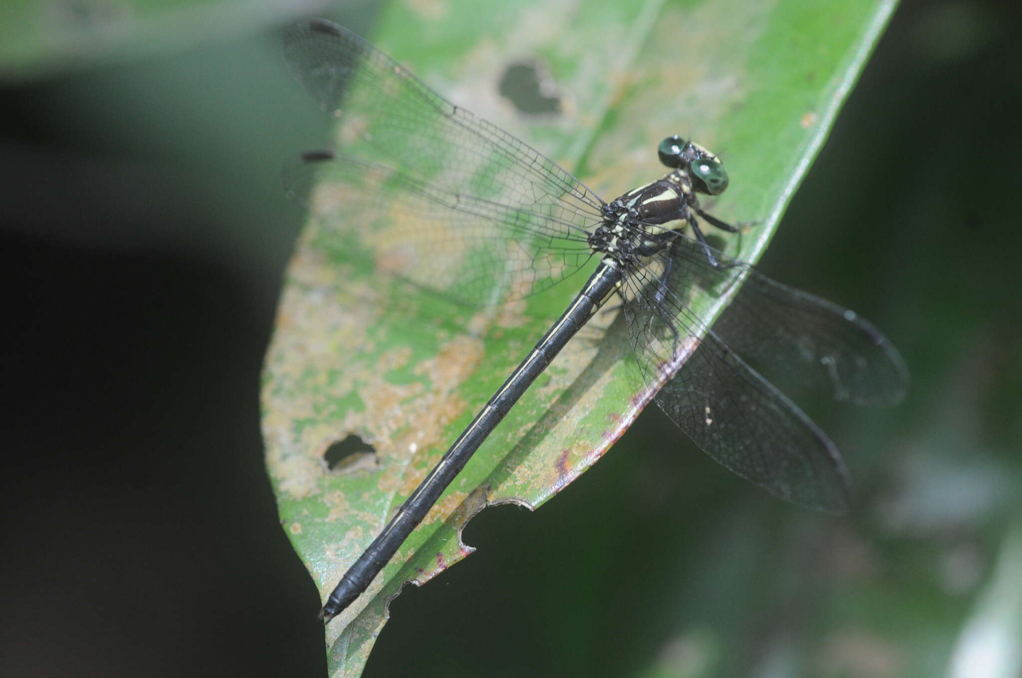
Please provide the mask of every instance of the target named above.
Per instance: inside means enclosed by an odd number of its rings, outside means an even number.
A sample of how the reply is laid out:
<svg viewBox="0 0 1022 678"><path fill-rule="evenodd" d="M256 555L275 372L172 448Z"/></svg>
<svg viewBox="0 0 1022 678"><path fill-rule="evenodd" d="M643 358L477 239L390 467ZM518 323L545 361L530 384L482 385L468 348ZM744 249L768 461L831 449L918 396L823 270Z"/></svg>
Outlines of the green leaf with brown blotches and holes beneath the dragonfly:
<svg viewBox="0 0 1022 678"><path fill-rule="evenodd" d="M658 178L656 145L722 152L713 212L754 222L727 243L756 260L820 149L894 3L449 2L394 5L369 36L449 100L521 137L605 199ZM556 118L497 94L522 55L549 68ZM264 431L280 515L325 597L574 295L576 276L497 313L381 281L380 252L343 252L313 213L288 270L267 356ZM707 322L718 309L707 306ZM595 464L650 394L636 389L613 313L594 319L480 447L370 589L327 627L331 675L361 673L387 602L471 552L486 505L536 507ZM376 458L329 471L355 434ZM542 555L541 555L542 556ZM541 601L537 601L540 604Z"/></svg>

